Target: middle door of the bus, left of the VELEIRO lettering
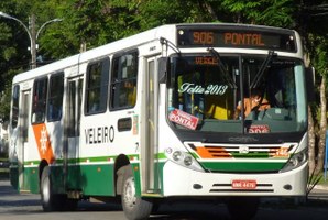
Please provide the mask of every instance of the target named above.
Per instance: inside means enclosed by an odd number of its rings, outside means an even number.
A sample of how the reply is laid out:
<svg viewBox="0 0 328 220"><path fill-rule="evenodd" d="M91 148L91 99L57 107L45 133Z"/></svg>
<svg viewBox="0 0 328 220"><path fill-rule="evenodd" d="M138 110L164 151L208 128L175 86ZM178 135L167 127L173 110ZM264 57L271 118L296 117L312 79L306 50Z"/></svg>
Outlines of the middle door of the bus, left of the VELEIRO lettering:
<svg viewBox="0 0 328 220"><path fill-rule="evenodd" d="M83 77L69 78L67 81L64 130L64 186L77 189L79 186L79 127L81 114Z"/></svg>

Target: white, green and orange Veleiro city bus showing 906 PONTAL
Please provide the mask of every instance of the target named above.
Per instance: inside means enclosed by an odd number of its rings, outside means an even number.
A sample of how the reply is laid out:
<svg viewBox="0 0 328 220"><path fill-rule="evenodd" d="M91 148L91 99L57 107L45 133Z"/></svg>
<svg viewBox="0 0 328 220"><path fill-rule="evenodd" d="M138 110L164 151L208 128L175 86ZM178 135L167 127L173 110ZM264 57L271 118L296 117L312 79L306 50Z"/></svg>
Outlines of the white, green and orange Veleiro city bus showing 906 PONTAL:
<svg viewBox="0 0 328 220"><path fill-rule="evenodd" d="M220 200L247 219L262 197L304 197L302 47L281 28L167 24L21 73L11 185L41 194L44 211L116 200L132 220L170 199Z"/></svg>

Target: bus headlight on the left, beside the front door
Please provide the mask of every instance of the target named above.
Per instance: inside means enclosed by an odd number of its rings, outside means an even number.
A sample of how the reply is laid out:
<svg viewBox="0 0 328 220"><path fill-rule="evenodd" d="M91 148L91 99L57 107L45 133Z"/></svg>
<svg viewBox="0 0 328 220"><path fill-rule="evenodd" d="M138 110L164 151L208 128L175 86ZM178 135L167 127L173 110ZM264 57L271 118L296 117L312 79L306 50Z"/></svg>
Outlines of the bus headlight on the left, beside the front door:
<svg viewBox="0 0 328 220"><path fill-rule="evenodd" d="M178 150L173 150L171 147L165 150L166 157L184 167L188 167L198 172L204 172L201 166L198 164L198 162L188 153L188 152L182 152Z"/></svg>

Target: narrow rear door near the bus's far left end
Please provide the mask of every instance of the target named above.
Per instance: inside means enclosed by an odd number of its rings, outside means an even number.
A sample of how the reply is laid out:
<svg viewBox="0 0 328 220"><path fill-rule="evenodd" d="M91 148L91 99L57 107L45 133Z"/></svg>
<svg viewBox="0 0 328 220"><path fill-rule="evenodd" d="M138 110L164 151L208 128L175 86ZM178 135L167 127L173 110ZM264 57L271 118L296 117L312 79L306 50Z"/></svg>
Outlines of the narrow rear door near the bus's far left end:
<svg viewBox="0 0 328 220"><path fill-rule="evenodd" d="M29 143L29 116L30 116L30 97L31 90L22 91L22 106L20 111L19 136L17 139L18 165L19 165L19 189L20 191L28 190L28 183L24 179L24 160L29 151L25 151Z"/></svg>

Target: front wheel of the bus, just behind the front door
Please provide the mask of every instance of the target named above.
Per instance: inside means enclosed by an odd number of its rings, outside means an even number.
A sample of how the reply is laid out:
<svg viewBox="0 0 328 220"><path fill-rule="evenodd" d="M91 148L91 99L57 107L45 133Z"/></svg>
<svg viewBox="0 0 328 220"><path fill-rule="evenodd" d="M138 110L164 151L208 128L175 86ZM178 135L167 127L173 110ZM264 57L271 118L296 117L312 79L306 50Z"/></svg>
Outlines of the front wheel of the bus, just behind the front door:
<svg viewBox="0 0 328 220"><path fill-rule="evenodd" d="M124 172L121 200L124 215L129 220L146 219L152 211L151 201L135 196L134 177L130 165Z"/></svg>

